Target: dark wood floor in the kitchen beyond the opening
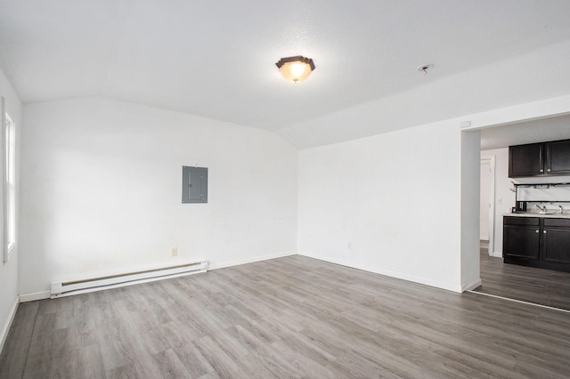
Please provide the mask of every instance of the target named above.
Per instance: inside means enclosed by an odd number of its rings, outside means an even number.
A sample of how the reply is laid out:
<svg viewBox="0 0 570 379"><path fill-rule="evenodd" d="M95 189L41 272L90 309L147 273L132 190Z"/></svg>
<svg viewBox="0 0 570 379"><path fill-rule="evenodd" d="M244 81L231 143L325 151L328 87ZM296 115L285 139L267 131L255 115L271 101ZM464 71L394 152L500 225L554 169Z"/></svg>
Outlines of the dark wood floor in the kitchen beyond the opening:
<svg viewBox="0 0 570 379"><path fill-rule="evenodd" d="M505 264L502 258L489 256L485 244L481 286L475 291L570 310L570 273Z"/></svg>

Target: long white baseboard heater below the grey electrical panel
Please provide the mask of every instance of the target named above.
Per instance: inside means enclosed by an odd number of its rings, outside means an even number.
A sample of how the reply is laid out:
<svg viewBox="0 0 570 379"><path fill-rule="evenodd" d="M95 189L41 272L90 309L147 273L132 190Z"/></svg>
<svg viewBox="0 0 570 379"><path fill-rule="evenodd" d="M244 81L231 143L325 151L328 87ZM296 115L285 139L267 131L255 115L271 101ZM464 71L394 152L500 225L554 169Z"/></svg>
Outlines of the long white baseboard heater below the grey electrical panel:
<svg viewBox="0 0 570 379"><path fill-rule="evenodd" d="M51 298L70 296L72 294L85 294L102 291L103 289L131 286L139 283L152 282L167 278L183 277L198 274L208 270L208 261L187 263L155 270L142 270L126 274L110 275L101 278L89 278L67 282L55 282L51 287Z"/></svg>

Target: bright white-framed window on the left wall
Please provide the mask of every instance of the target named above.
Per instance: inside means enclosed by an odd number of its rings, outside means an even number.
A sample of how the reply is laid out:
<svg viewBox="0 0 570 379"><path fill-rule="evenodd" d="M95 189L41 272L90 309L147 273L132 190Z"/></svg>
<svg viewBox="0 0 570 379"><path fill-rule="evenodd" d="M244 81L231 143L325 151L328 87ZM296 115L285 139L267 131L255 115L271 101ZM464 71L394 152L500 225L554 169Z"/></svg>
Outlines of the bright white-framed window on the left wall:
<svg viewBox="0 0 570 379"><path fill-rule="evenodd" d="M16 244L16 125L4 110L4 262Z"/></svg>

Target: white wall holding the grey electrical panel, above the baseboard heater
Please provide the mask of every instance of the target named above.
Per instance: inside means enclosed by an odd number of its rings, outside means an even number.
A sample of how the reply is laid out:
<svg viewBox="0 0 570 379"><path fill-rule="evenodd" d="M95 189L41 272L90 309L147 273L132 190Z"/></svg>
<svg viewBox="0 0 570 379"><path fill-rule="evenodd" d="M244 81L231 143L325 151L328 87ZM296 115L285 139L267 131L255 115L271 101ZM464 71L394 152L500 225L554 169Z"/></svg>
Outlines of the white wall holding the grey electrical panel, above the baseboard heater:
<svg viewBox="0 0 570 379"><path fill-rule="evenodd" d="M56 280L296 253L297 149L281 137L100 98L27 104L24 117L25 300ZM208 167L208 204L181 204L183 165Z"/></svg>

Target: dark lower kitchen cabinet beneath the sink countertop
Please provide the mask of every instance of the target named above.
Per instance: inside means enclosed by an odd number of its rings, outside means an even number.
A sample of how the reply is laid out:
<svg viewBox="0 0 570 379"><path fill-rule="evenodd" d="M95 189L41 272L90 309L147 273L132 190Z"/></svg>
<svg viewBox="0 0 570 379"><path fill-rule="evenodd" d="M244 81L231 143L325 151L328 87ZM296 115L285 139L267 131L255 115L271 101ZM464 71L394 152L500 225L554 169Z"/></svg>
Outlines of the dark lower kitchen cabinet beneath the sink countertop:
<svg viewBox="0 0 570 379"><path fill-rule="evenodd" d="M570 220L506 216L502 251L505 263L570 272Z"/></svg>

